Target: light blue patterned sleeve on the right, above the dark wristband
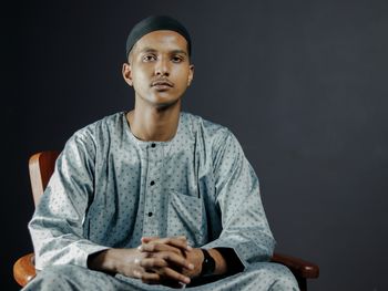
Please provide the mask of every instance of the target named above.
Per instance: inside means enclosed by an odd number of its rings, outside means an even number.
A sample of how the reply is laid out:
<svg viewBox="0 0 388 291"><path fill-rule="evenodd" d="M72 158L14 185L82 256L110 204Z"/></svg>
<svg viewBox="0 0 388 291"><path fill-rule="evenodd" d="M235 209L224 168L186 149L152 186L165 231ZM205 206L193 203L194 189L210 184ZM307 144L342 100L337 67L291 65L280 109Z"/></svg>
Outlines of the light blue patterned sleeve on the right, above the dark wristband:
<svg viewBox="0 0 388 291"><path fill-rule="evenodd" d="M267 261L275 240L262 205L257 176L231 132L215 147L213 165L222 232L204 247L234 249L245 268L251 262Z"/></svg>

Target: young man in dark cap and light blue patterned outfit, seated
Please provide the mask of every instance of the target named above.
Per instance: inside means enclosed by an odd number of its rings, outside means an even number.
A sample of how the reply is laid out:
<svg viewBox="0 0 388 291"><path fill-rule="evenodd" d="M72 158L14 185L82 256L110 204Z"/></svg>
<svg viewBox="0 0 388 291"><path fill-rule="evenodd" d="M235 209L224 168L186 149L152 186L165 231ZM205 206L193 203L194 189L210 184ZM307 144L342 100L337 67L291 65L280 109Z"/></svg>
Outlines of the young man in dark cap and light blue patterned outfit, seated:
<svg viewBox="0 0 388 291"><path fill-rule="evenodd" d="M275 241L235 136L181 112L186 29L147 18L126 55L134 110L68 141L29 224L42 271L25 290L297 290L268 262Z"/></svg>

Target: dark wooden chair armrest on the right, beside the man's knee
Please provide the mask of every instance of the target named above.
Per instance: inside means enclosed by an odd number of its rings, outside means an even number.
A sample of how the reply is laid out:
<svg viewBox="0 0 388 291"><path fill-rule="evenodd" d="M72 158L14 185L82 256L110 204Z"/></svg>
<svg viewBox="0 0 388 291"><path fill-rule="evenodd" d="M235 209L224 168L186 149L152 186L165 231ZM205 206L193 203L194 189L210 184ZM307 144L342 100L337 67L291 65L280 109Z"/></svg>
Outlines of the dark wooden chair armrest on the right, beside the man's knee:
<svg viewBox="0 0 388 291"><path fill-rule="evenodd" d="M272 261L288 267L294 274L305 279L318 278L319 276L319 267L317 264L298 258L275 252Z"/></svg>

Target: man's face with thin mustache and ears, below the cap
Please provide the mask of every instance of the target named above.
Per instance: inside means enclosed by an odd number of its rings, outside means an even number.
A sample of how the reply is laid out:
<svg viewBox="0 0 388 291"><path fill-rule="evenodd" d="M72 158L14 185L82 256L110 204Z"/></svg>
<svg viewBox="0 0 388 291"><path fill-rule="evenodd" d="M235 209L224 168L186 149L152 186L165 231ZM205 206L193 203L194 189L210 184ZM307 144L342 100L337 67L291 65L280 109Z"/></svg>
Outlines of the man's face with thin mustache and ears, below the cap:
<svg viewBox="0 0 388 291"><path fill-rule="evenodd" d="M134 87L136 98L159 107L178 102L193 80L187 42L174 31L153 31L142 37L129 63L123 65L123 75Z"/></svg>

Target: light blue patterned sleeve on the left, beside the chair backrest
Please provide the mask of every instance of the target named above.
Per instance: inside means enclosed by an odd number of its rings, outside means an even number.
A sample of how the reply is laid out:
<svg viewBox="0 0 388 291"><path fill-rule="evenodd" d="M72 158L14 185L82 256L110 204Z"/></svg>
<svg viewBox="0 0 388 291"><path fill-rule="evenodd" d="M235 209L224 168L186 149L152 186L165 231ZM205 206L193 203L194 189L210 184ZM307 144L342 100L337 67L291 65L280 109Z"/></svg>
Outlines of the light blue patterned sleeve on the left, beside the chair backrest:
<svg viewBox="0 0 388 291"><path fill-rule="evenodd" d="M83 224L93 199L95 146L81 129L65 144L29 224L37 269L51 264L86 267L91 253L106 249L86 239Z"/></svg>

